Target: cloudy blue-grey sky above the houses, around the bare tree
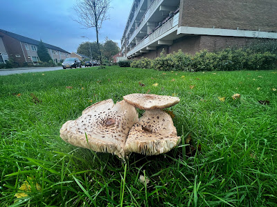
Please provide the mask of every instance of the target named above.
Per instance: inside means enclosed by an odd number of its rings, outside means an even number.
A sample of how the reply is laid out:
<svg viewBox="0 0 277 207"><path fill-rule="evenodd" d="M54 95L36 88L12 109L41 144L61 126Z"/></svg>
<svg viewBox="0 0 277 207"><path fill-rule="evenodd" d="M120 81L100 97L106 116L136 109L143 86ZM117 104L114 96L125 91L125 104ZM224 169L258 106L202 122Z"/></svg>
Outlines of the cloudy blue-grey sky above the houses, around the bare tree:
<svg viewBox="0 0 277 207"><path fill-rule="evenodd" d="M80 43L96 41L95 28L84 29L73 21L75 0L0 0L0 29L76 52ZM100 41L120 39L133 0L111 0L109 20L102 24Z"/></svg>

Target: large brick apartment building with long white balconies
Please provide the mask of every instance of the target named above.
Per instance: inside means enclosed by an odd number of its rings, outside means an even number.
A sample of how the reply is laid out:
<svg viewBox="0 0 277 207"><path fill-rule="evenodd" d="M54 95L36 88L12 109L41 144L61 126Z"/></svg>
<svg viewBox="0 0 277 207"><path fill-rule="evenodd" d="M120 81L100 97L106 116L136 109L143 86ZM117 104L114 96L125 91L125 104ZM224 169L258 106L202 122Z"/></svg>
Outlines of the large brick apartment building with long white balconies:
<svg viewBox="0 0 277 207"><path fill-rule="evenodd" d="M124 57L194 54L277 39L277 1L134 0L121 39Z"/></svg>

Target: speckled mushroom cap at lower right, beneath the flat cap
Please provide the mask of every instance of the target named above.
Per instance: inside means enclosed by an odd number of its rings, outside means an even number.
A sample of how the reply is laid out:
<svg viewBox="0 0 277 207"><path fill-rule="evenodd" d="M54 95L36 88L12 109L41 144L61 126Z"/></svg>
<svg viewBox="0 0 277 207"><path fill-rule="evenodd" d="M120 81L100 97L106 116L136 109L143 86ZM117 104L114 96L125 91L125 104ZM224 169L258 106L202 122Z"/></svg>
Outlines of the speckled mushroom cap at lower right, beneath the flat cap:
<svg viewBox="0 0 277 207"><path fill-rule="evenodd" d="M125 155L130 152L159 155L178 143L179 137L170 115L162 110L147 110L129 131L124 150Z"/></svg>

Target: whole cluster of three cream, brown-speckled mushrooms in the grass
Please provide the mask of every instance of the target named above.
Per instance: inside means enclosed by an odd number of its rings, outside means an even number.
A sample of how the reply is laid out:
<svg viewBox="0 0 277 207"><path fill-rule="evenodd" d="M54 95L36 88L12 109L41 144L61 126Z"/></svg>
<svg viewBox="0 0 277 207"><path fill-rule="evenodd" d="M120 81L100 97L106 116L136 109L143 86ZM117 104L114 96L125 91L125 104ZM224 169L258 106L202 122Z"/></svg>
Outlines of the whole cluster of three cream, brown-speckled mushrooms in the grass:
<svg viewBox="0 0 277 207"><path fill-rule="evenodd" d="M179 144L172 118L161 110L176 103L178 97L139 93L116 104L112 99L100 101L84 109L78 119L66 121L60 137L74 146L120 158L131 152L159 155ZM136 108L145 110L142 117Z"/></svg>

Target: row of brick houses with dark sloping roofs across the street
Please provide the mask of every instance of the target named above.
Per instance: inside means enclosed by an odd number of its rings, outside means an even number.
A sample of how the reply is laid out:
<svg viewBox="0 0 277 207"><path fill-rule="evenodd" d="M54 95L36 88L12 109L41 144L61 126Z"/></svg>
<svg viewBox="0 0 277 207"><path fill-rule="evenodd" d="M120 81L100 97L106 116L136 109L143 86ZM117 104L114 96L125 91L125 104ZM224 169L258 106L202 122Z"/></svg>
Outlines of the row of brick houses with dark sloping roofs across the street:
<svg viewBox="0 0 277 207"><path fill-rule="evenodd" d="M21 36L6 30L0 29L0 62L3 62L12 58L17 62L19 66L23 66L24 63L37 63L39 57L37 55L37 46L39 41L30 39L28 37ZM64 61L67 57L70 57L70 53L57 46L44 43L49 55L55 63Z"/></svg>

